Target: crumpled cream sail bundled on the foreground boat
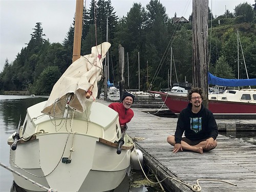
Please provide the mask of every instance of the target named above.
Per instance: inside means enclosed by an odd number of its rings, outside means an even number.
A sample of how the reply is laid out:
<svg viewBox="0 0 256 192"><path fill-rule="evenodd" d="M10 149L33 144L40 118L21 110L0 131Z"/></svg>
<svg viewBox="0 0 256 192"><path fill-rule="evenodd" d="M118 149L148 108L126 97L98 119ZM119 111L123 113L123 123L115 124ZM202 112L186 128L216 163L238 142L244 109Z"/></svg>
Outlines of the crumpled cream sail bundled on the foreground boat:
<svg viewBox="0 0 256 192"><path fill-rule="evenodd" d="M101 79L103 69L102 61L110 46L109 42L103 42L92 47L91 54L81 56L74 61L55 83L41 112L53 117L61 117L67 102L70 108L80 113L84 112L97 97L97 82ZM90 89L92 95L88 99L86 94ZM72 95L71 99L70 95Z"/></svg>

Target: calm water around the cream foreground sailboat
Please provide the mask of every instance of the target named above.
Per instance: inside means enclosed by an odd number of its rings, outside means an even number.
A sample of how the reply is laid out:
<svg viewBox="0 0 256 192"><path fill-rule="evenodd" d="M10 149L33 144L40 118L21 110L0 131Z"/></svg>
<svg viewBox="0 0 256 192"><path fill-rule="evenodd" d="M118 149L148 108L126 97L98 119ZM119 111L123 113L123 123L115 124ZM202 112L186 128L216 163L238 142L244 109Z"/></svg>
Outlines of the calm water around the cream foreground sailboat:
<svg viewBox="0 0 256 192"><path fill-rule="evenodd" d="M8 137L16 132L19 118L25 119L26 109L38 102L47 100L48 97L31 96L6 96L0 95L0 162L9 164ZM157 182L154 177L152 181ZM12 173L0 166L0 191L10 192L13 183ZM159 185L153 185L146 181L141 170L132 170L129 176L125 177L121 185L113 192L156 192L162 191Z"/></svg>

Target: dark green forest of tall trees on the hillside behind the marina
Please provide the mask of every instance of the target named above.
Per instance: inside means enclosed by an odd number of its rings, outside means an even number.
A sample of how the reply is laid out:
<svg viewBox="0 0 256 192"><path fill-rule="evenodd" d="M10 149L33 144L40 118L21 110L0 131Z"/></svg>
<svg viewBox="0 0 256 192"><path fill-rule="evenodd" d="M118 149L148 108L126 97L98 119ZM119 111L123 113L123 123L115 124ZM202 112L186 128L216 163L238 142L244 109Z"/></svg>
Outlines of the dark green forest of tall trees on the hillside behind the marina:
<svg viewBox="0 0 256 192"><path fill-rule="evenodd" d="M254 5L241 3L234 12L226 10L216 18L210 9L208 12L209 72L229 79L256 78L256 0ZM169 79L172 84L192 82L193 15L191 13L185 22L177 22L177 17L176 14L168 17L159 0L151 0L145 7L134 3L122 18L116 16L111 0L97 3L92 0L89 9L84 8L81 55L90 54L91 47L106 41L108 34L112 45L109 80L116 86L120 79L119 45L125 51L126 90L139 89L139 75L141 91L166 89L171 86ZM49 95L55 82L71 65L74 22L61 44L44 38L42 23L36 23L33 30L30 41L15 60L10 63L8 58L5 60L0 73L1 93L27 91ZM101 89L103 80L99 83Z"/></svg>

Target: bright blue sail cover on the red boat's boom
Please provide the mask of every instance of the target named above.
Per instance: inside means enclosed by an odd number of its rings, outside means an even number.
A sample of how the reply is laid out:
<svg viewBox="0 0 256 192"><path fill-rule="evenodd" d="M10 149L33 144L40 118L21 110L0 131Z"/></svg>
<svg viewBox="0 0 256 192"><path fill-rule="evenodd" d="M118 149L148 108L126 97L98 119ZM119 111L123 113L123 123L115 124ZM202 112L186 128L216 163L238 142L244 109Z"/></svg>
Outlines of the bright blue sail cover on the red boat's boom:
<svg viewBox="0 0 256 192"><path fill-rule="evenodd" d="M256 86L256 79L224 79L208 72L208 84L227 87Z"/></svg>

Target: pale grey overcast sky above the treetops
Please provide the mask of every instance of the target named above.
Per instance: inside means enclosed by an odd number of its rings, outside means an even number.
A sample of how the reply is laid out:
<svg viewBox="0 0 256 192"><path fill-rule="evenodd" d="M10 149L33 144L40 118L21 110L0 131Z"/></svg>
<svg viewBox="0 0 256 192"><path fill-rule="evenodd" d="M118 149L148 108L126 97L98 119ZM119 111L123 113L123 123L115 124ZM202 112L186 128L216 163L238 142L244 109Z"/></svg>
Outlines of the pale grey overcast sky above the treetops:
<svg viewBox="0 0 256 192"><path fill-rule="evenodd" d="M214 16L222 15L225 10L234 12L240 3L254 4L254 0L208 0L209 7ZM89 8L90 0L86 7ZM141 3L143 7L150 0L112 0L116 15L126 16L133 3ZM192 0L160 0L166 8L169 17L184 16L188 18L192 13ZM17 53L31 39L33 28L37 22L42 23L42 28L50 42L62 42L73 22L75 14L75 0L0 0L0 71L4 67L6 58L12 62Z"/></svg>

